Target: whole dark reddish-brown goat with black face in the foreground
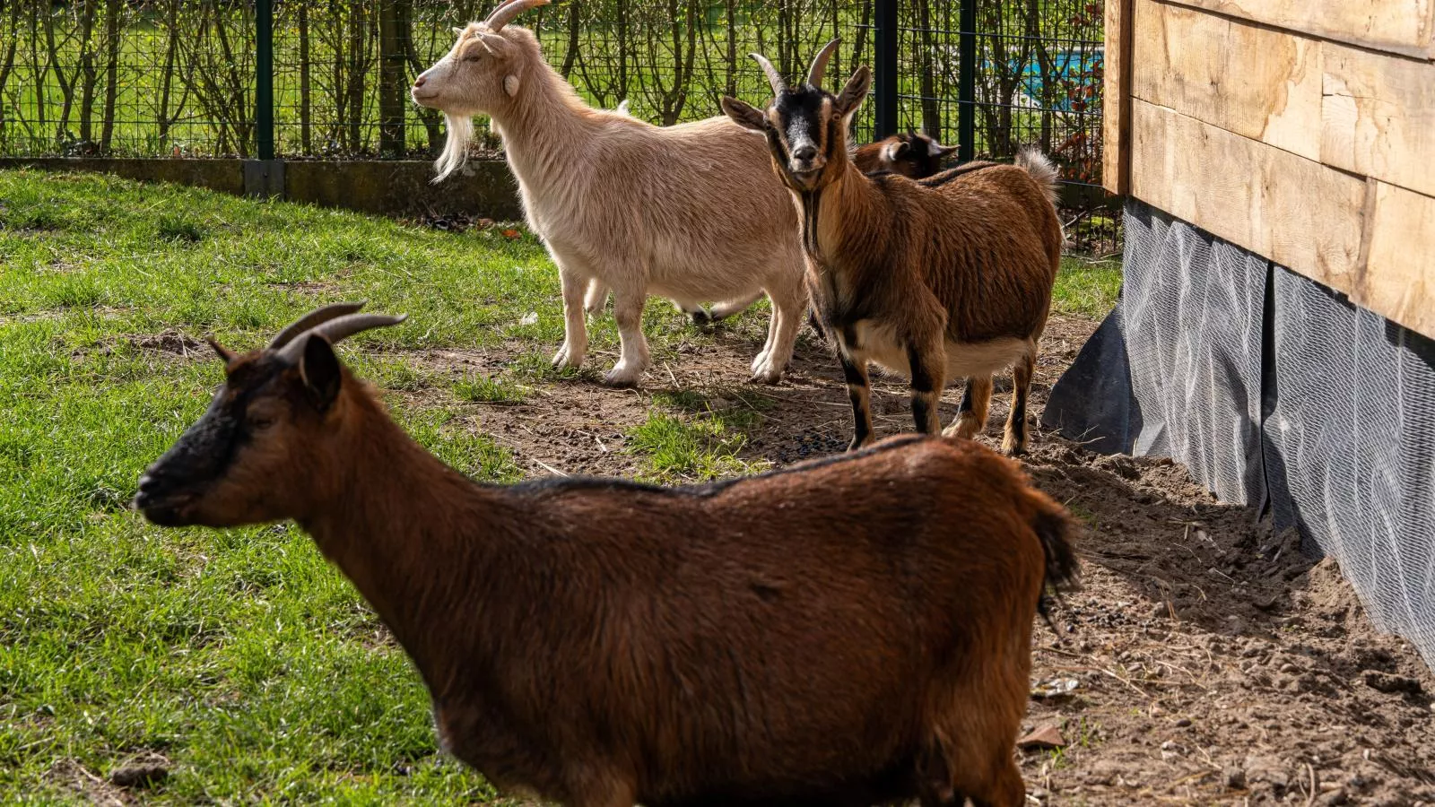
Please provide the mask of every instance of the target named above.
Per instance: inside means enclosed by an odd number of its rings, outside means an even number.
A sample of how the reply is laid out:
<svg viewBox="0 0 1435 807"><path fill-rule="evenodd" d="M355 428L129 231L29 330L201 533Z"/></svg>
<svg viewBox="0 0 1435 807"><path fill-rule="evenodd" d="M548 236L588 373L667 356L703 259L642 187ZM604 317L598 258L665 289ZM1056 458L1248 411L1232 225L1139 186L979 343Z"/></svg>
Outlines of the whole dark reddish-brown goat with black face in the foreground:
<svg viewBox="0 0 1435 807"><path fill-rule="evenodd" d="M1033 616L1073 523L973 441L752 478L474 482L413 442L321 309L139 480L162 526L294 518L413 659L442 745L575 807L1019 807Z"/></svg>

